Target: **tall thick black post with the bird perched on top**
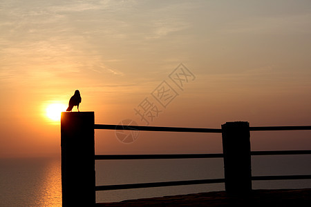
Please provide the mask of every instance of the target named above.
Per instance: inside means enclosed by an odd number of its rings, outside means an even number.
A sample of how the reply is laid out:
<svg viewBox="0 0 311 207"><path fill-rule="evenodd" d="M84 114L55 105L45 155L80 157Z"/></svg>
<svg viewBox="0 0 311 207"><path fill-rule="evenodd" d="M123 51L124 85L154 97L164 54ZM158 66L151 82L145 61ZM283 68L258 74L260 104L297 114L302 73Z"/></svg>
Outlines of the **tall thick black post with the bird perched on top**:
<svg viewBox="0 0 311 207"><path fill-rule="evenodd" d="M95 204L94 112L62 112L62 206Z"/></svg>

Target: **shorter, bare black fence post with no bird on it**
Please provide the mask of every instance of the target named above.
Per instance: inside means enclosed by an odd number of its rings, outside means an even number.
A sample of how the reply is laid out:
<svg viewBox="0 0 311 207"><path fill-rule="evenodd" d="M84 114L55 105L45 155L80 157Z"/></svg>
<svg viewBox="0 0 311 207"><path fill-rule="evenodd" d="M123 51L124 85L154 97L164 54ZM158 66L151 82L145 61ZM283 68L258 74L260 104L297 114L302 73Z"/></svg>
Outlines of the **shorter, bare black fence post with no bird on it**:
<svg viewBox="0 0 311 207"><path fill-rule="evenodd" d="M227 122L223 130L225 190L228 195L243 195L252 191L252 167L249 123Z"/></svg>

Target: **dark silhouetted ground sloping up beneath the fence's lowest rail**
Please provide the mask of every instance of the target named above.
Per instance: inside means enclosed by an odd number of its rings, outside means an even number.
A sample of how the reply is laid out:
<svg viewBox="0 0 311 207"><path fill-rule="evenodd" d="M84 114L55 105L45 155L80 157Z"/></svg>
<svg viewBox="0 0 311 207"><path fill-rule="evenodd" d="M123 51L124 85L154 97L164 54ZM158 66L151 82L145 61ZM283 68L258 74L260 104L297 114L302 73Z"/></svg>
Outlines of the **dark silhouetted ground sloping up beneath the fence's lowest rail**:
<svg viewBox="0 0 311 207"><path fill-rule="evenodd" d="M311 206L311 188L294 190L252 190L247 197L229 197L225 191L126 200L103 206Z"/></svg>

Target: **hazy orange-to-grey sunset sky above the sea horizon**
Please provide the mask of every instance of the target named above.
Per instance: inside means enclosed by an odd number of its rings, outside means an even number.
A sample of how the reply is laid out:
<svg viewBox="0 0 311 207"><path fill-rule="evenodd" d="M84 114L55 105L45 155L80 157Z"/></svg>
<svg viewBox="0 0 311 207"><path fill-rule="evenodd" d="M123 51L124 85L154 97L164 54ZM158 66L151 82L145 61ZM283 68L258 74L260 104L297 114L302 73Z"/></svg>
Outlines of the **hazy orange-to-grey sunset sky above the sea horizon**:
<svg viewBox="0 0 311 207"><path fill-rule="evenodd" d="M59 156L60 124L46 108L77 89L95 124L310 126L310 22L303 0L0 0L0 157ZM143 103L158 111L149 123L135 111ZM252 132L252 150L310 149L310 135ZM209 153L221 152L221 135L140 132L124 144L96 130L95 145Z"/></svg>

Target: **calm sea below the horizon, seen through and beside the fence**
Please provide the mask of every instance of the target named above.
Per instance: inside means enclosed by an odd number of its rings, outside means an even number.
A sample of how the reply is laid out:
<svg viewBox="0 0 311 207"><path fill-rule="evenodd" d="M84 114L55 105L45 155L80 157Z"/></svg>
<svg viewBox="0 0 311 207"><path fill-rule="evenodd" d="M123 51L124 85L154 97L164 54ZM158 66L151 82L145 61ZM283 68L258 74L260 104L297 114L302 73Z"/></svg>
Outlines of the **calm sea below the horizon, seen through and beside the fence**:
<svg viewBox="0 0 311 207"><path fill-rule="evenodd" d="M253 156L252 175L310 175L310 163L311 155ZM224 177L220 158L101 160L95 169L97 186ZM311 188L311 180L253 181L253 189L263 188ZM224 189L224 184L201 184L111 190L97 192L96 199L111 202ZM1 159L0 206L62 206L60 159Z"/></svg>

